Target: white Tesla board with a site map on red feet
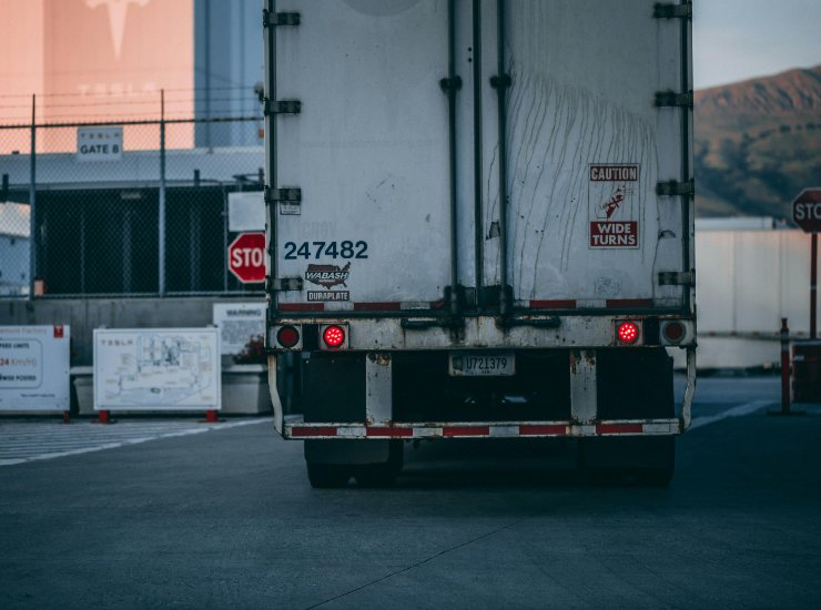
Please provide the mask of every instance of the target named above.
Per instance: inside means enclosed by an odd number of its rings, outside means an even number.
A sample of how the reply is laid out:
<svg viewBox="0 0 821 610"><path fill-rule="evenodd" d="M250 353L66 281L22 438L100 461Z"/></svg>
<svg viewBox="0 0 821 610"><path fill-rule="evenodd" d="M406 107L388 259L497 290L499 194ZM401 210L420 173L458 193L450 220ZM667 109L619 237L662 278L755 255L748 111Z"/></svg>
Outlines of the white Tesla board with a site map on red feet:
<svg viewBox="0 0 821 610"><path fill-rule="evenodd" d="M95 329L95 410L221 407L216 328Z"/></svg>

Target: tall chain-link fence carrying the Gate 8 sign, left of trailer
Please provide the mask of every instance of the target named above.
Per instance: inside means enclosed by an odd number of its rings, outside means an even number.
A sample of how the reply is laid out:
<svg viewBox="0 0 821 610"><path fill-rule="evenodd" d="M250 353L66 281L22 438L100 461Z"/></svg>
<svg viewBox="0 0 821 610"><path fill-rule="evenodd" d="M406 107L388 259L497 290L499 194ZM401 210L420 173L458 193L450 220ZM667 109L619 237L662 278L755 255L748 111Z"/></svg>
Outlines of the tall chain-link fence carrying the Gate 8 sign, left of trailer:
<svg viewBox="0 0 821 610"><path fill-rule="evenodd" d="M227 247L232 193L262 202L262 126L0 125L0 297L260 294Z"/></svg>

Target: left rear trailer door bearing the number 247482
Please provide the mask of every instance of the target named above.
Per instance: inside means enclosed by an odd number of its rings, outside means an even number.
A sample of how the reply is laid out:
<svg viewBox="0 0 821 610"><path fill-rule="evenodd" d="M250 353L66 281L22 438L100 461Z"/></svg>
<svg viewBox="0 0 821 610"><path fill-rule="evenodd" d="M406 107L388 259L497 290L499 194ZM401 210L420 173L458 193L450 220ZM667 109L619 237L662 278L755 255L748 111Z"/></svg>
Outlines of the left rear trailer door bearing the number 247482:
<svg viewBox="0 0 821 610"><path fill-rule="evenodd" d="M280 307L440 306L450 283L447 2L277 2L275 272ZM288 110L287 108L282 110ZM291 109L293 110L293 109Z"/></svg>

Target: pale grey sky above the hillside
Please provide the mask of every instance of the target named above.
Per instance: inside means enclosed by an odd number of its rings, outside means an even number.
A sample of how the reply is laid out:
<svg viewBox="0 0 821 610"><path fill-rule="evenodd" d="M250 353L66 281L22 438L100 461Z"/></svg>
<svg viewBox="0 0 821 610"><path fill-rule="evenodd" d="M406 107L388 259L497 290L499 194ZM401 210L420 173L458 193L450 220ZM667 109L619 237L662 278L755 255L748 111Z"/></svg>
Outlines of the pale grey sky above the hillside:
<svg viewBox="0 0 821 610"><path fill-rule="evenodd" d="M821 63L821 0L693 0L696 89Z"/></svg>

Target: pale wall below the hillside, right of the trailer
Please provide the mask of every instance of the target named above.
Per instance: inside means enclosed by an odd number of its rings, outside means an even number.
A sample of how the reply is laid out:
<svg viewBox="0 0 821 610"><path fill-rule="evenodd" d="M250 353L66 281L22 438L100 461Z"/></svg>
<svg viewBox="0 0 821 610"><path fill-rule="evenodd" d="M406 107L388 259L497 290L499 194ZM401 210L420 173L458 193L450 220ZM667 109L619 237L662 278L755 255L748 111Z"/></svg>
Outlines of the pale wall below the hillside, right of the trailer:
<svg viewBox="0 0 821 610"><path fill-rule="evenodd" d="M699 368L779 363L778 332L810 332L810 236L801 231L697 231ZM676 366L685 357L673 354Z"/></svg>

